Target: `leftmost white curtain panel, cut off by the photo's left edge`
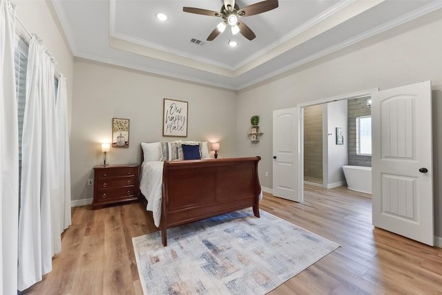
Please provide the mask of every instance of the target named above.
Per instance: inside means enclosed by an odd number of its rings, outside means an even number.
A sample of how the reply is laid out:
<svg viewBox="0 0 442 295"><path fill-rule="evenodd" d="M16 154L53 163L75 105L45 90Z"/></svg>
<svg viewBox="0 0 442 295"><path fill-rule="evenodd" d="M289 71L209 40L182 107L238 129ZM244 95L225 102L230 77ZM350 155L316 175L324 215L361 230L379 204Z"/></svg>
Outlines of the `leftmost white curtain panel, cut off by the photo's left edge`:
<svg viewBox="0 0 442 295"><path fill-rule="evenodd" d="M14 71L15 8L0 7L0 293L17 292L19 128Z"/></svg>

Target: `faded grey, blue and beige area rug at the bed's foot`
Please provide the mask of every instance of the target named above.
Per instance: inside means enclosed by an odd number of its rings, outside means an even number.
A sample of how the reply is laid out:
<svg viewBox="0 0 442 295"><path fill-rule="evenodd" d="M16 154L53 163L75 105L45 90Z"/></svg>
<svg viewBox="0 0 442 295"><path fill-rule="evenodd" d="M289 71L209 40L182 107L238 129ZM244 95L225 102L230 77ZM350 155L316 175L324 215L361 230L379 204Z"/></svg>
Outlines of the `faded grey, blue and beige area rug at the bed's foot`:
<svg viewBox="0 0 442 295"><path fill-rule="evenodd" d="M266 211L133 238L144 294L266 294L339 247Z"/></svg>

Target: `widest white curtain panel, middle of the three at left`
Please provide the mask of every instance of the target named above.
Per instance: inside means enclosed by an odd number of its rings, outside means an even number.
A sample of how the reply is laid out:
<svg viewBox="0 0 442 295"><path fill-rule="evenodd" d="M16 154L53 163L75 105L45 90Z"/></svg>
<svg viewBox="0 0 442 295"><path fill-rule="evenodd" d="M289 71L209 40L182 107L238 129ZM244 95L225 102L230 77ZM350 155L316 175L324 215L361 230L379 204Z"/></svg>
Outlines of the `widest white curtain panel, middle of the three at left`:
<svg viewBox="0 0 442 295"><path fill-rule="evenodd" d="M54 64L42 42L29 43L23 120L18 289L37 283L61 250Z"/></svg>

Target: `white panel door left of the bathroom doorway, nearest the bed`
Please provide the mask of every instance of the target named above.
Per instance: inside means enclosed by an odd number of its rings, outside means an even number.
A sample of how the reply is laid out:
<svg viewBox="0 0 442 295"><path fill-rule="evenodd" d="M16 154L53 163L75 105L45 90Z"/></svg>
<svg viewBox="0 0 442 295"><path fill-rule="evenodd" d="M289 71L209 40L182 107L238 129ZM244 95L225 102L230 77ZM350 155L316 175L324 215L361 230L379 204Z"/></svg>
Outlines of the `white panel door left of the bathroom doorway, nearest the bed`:
<svg viewBox="0 0 442 295"><path fill-rule="evenodd" d="M299 108L273 111L273 196L302 201Z"/></svg>

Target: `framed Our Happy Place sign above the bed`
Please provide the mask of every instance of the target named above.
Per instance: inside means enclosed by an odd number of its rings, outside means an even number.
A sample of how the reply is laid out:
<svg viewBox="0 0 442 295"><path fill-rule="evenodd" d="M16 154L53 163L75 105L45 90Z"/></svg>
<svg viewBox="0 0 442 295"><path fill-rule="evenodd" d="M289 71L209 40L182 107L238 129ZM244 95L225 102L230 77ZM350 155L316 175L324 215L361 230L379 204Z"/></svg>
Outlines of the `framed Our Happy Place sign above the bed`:
<svg viewBox="0 0 442 295"><path fill-rule="evenodd" d="M187 137L187 102L164 98L163 136Z"/></svg>

